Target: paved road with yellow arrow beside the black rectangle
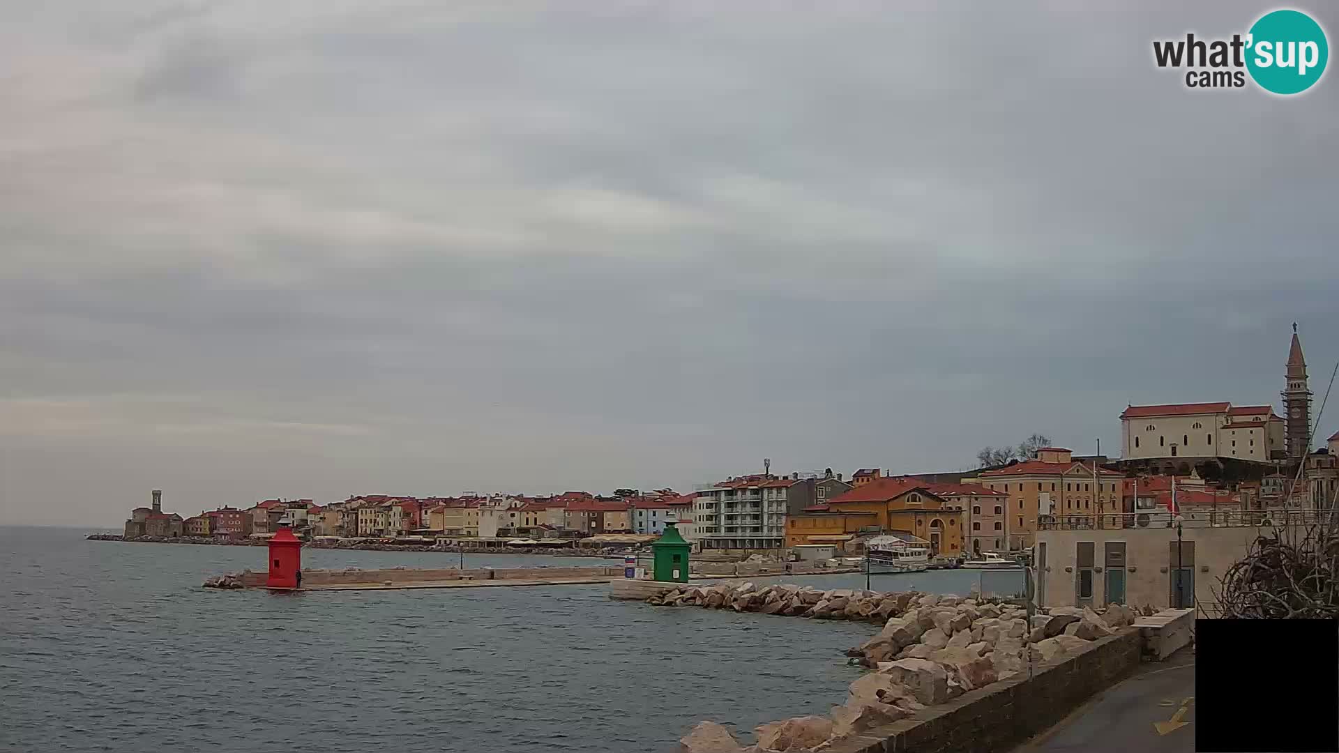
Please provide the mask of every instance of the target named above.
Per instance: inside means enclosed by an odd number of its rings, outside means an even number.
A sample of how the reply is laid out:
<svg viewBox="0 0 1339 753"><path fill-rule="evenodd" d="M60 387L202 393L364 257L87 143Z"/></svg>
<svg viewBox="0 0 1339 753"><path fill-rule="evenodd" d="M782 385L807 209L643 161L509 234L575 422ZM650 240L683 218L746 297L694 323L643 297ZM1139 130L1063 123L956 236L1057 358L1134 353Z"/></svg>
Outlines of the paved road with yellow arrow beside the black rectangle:
<svg viewBox="0 0 1339 753"><path fill-rule="evenodd" d="M1142 665L1139 674L1107 689L1015 753L1131 750L1194 750L1193 648L1182 648L1162 663Z"/></svg>

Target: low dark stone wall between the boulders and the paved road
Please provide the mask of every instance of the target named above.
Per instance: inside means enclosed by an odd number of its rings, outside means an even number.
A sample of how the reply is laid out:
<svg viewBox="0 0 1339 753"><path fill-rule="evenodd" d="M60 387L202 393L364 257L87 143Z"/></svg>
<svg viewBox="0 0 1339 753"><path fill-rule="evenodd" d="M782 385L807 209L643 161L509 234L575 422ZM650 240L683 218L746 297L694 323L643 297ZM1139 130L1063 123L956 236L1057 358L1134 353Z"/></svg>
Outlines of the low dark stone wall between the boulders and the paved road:
<svg viewBox="0 0 1339 753"><path fill-rule="evenodd" d="M1028 678L971 690L937 706L860 736L837 740L828 753L991 753L1039 734L1139 665L1142 639L1133 627L1094 640L1086 650L1040 662Z"/></svg>

